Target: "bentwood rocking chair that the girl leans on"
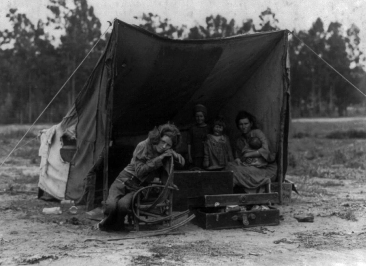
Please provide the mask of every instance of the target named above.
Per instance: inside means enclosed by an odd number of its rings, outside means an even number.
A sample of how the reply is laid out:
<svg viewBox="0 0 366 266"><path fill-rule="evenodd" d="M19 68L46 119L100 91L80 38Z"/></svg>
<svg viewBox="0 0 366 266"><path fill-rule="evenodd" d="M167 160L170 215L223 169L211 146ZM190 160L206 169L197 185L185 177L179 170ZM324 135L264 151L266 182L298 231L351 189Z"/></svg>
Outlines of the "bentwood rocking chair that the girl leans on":
<svg viewBox="0 0 366 266"><path fill-rule="evenodd" d="M165 185L150 185L137 190L132 197L132 216L135 230L139 231L139 223L157 224L168 222L169 228L172 228L172 221L188 214L188 210L173 214L173 191L178 190L173 185L173 157L169 161L169 174ZM158 189L159 194L153 200L149 200L150 192ZM156 211L158 210L158 212ZM182 225L190 221L192 217L187 218Z"/></svg>

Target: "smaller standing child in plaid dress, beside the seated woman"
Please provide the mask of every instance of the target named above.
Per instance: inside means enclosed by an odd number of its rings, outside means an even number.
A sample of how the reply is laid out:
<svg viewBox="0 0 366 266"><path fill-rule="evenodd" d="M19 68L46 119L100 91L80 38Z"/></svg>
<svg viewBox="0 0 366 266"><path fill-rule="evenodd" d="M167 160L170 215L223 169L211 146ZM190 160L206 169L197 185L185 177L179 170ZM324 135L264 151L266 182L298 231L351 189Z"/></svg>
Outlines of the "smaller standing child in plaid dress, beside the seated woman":
<svg viewBox="0 0 366 266"><path fill-rule="evenodd" d="M203 167L207 170L221 170L229 161L234 161L229 137L224 135L225 122L218 118L213 122L212 134L204 143Z"/></svg>

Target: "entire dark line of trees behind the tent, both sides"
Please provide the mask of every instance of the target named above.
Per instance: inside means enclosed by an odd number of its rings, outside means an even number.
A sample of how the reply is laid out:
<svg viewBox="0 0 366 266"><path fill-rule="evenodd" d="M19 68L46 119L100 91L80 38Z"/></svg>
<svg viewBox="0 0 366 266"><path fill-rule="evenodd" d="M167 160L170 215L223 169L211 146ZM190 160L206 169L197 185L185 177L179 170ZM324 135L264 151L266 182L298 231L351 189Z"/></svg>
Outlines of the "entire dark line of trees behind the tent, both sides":
<svg viewBox="0 0 366 266"><path fill-rule="evenodd" d="M49 0L47 21L33 24L16 8L7 17L12 29L0 31L0 123L32 123L101 37L101 23L86 0L74 0L70 8L63 0ZM206 17L206 25L188 28L173 25L168 18L147 13L135 16L136 24L162 37L175 39L208 39L278 30L279 20L267 8L259 14L260 23L245 19L237 24L221 15ZM59 39L45 28L61 32ZM359 28L342 31L338 22L327 30L317 19L309 30L290 38L291 105L295 116L344 115L347 106L361 103L362 95L326 66L329 62L344 77L365 90L365 57L359 50ZM86 61L56 97L40 122L58 122L72 106L106 44L103 38Z"/></svg>

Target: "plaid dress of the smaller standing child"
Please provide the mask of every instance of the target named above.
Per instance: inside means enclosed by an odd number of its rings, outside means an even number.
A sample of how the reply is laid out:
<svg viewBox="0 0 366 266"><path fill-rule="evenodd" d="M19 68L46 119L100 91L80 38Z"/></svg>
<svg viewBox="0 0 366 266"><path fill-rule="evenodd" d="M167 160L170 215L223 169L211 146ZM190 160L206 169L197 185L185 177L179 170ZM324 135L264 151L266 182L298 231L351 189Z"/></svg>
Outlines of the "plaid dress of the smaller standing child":
<svg viewBox="0 0 366 266"><path fill-rule="evenodd" d="M216 140L211 134L208 134L204 143L204 152L203 167L208 170L223 169L229 161L234 160L230 141L226 135L222 135L219 140Z"/></svg>

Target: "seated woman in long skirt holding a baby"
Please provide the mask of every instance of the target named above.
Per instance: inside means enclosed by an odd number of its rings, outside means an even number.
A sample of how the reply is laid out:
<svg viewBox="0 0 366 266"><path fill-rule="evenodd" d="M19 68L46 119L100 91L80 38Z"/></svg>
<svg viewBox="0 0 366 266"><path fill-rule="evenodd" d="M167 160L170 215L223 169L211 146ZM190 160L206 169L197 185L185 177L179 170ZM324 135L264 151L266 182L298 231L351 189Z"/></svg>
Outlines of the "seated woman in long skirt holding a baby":
<svg viewBox="0 0 366 266"><path fill-rule="evenodd" d="M269 150L268 140L262 130L257 128L255 117L246 112L240 111L235 119L236 126L242 135L236 140L235 160L228 163L227 169L234 172L234 186L242 187L246 192L253 192L262 185L275 181L277 176L276 154ZM250 148L251 138L258 137L261 147ZM260 157L266 163L247 163L248 158Z"/></svg>

